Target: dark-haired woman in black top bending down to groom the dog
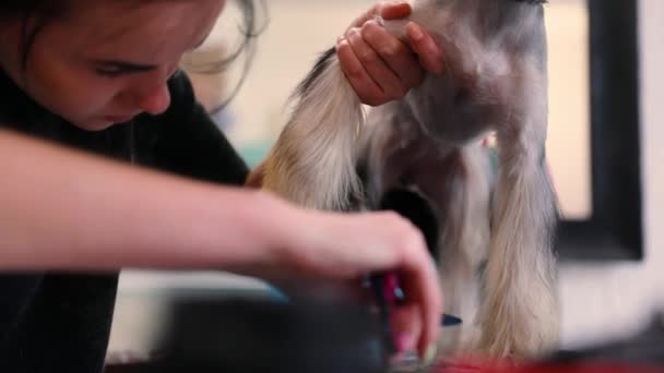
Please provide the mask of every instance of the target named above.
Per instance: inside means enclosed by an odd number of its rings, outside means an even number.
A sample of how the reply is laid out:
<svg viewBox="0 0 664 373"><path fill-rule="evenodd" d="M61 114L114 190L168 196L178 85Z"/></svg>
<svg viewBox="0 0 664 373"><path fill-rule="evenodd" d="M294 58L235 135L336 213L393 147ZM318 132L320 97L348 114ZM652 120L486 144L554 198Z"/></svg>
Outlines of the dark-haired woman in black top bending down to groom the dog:
<svg viewBox="0 0 664 373"><path fill-rule="evenodd" d="M1 2L0 371L99 372L126 267L337 280L400 270L406 310L418 310L404 320L422 324L420 353L432 345L440 293L411 225L392 214L303 210L239 188L245 164L177 68L224 4ZM377 5L339 40L367 104L404 95L422 67L442 70L416 25L406 46L369 21L408 11Z"/></svg>

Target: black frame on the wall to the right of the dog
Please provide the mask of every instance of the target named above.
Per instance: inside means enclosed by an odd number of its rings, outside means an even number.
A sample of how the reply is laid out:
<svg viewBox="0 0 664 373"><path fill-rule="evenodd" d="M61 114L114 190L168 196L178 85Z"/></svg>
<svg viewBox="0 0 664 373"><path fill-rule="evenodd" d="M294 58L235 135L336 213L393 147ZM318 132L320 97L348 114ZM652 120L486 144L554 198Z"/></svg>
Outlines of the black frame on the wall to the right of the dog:
<svg viewBox="0 0 664 373"><path fill-rule="evenodd" d="M638 1L588 0L592 216L559 221L561 261L642 261Z"/></svg>

